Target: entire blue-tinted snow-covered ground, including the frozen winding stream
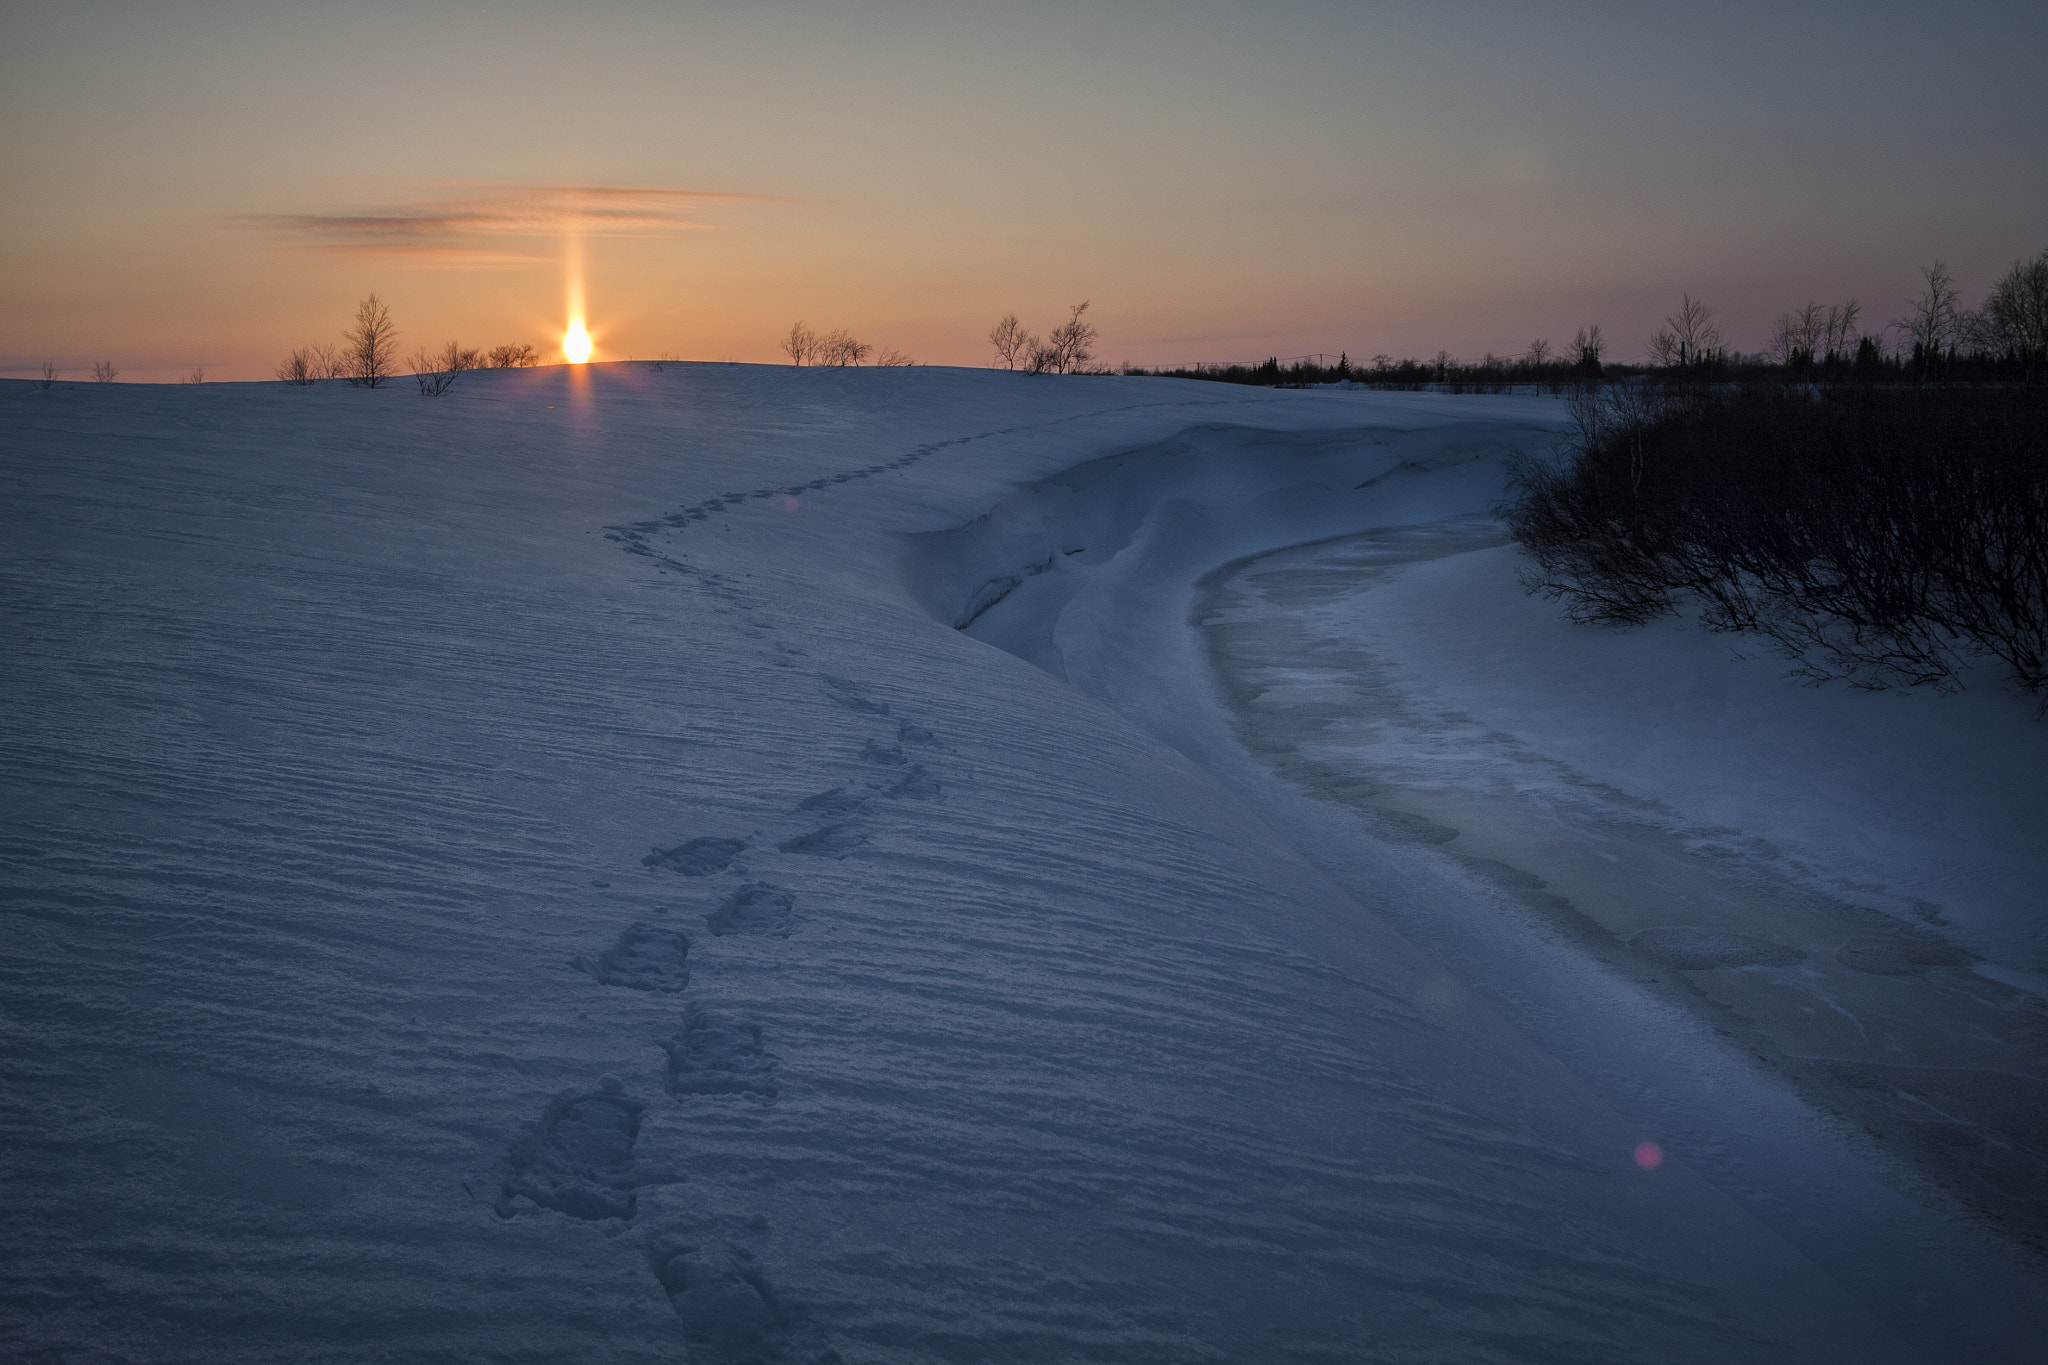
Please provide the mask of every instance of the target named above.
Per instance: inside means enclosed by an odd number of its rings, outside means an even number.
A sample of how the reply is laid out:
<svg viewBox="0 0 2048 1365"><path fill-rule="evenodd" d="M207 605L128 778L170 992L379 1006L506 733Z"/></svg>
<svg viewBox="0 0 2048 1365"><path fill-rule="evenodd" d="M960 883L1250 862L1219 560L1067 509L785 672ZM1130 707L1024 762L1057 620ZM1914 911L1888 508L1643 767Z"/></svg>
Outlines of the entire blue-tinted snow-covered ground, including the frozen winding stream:
<svg viewBox="0 0 2048 1365"><path fill-rule="evenodd" d="M0 385L23 1361L2038 1361L2048 724L1534 397Z"/></svg>

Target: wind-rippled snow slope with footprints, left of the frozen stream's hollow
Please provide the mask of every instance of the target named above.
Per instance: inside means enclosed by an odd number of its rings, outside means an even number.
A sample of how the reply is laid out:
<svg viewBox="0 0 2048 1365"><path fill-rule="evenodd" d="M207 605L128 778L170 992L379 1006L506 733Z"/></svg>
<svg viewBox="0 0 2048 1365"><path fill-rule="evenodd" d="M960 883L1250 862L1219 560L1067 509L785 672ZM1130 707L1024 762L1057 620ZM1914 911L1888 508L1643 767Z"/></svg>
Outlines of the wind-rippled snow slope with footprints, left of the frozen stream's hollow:
<svg viewBox="0 0 2048 1365"><path fill-rule="evenodd" d="M0 401L8 1355L1911 1359L899 577L901 534L1190 426L1368 460L1483 405Z"/></svg>

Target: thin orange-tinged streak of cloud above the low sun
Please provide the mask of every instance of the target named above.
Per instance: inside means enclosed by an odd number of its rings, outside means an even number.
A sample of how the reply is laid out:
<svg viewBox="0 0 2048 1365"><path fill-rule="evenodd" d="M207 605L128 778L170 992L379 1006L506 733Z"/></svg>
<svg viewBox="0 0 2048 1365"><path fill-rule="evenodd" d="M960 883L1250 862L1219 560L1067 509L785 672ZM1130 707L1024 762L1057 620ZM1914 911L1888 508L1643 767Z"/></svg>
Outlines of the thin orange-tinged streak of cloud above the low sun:
<svg viewBox="0 0 2048 1365"><path fill-rule="evenodd" d="M506 250L504 237L662 237L705 227L692 209L788 203L772 194L631 184L504 186L369 213L266 213L258 221L330 252L432 264L524 266L553 256Z"/></svg>

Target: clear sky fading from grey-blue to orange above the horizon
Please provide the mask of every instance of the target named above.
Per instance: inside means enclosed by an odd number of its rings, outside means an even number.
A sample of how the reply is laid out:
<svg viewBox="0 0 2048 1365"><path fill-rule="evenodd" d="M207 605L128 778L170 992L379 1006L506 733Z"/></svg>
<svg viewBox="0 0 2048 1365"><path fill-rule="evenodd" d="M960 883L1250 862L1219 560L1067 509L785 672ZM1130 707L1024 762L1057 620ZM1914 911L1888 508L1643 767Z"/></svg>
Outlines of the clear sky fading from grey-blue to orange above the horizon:
<svg viewBox="0 0 2048 1365"><path fill-rule="evenodd" d="M1761 348L2048 248L2048 6L4 4L0 370L266 377L563 327L936 364L1092 301L1100 356ZM580 244L580 246L578 246Z"/></svg>

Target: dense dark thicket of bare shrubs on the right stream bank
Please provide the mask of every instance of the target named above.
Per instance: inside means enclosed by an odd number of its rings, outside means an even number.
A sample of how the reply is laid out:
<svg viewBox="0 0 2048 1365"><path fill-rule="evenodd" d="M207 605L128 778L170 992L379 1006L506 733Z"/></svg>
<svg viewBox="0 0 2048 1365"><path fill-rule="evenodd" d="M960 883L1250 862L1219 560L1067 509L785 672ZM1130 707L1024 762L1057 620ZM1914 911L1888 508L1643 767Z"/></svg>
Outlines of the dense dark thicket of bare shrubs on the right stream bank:
<svg viewBox="0 0 2048 1365"><path fill-rule="evenodd" d="M2023 387L1581 391L1501 508L1585 622L1690 600L1812 679L1952 688L2001 659L2048 710L2048 397Z"/></svg>

